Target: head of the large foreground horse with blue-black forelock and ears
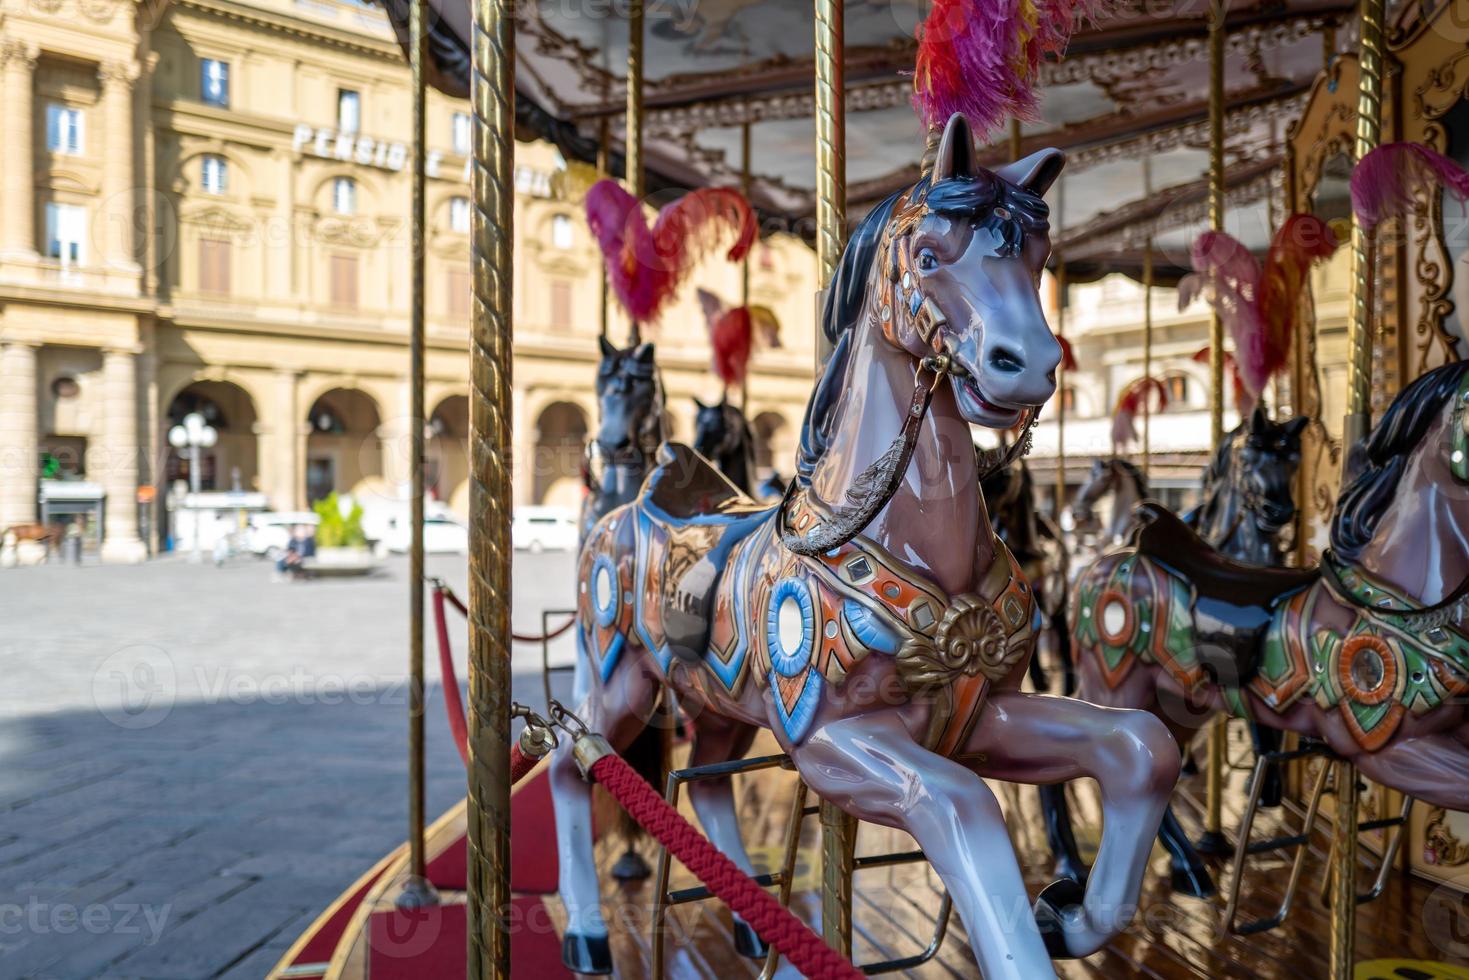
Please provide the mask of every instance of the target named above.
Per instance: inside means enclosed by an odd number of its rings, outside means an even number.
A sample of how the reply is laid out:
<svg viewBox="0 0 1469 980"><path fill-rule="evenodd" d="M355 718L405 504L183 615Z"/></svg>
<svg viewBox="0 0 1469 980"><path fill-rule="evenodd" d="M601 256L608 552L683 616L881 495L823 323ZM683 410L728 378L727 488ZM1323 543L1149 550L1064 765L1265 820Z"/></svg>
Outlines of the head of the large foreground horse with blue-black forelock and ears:
<svg viewBox="0 0 1469 980"><path fill-rule="evenodd" d="M1042 150L987 170L964 116L943 131L931 173L892 209L874 276L884 338L923 360L950 359L959 414L1014 426L1056 389L1061 344L1037 284L1050 257L1043 194L1065 157Z"/></svg>

